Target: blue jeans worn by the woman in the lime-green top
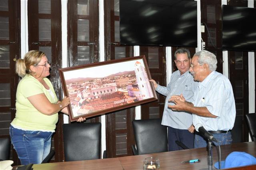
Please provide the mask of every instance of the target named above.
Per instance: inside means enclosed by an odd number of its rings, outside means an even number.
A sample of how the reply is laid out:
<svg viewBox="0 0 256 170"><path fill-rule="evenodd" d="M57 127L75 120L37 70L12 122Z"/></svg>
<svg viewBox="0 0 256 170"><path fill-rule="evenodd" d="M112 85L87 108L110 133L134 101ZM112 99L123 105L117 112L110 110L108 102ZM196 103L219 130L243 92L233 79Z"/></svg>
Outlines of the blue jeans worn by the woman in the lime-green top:
<svg viewBox="0 0 256 170"><path fill-rule="evenodd" d="M11 125L11 142L21 164L40 164L50 153L52 134L52 132L20 130Z"/></svg>

